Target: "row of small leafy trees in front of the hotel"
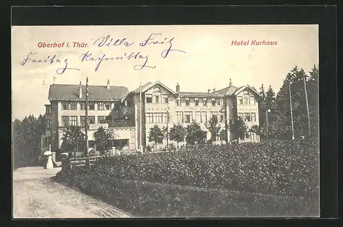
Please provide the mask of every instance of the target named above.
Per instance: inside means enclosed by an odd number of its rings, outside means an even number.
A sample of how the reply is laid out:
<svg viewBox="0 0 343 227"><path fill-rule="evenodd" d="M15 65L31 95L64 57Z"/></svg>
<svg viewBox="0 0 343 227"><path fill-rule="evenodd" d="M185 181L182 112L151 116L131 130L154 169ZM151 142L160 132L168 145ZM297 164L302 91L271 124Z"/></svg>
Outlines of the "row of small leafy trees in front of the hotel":
<svg viewBox="0 0 343 227"><path fill-rule="evenodd" d="M209 140L209 143L215 141L217 136L226 136L226 129L221 128L221 126L218 124L217 116L211 117L209 123L206 124L206 128L209 130L209 132L211 132L211 139ZM241 119L230 121L228 128L230 129L230 132L233 132L237 136L243 136L248 129L244 121L241 121ZM155 125L154 127L150 128L147 139L149 142L155 143L156 149L157 144L162 143L163 139L166 139L167 136L171 141L175 141L177 143L177 147L179 147L179 143L185 140L191 145L196 143L204 143L206 139L206 132L202 130L201 126L196 121L193 121L187 127L184 127L180 124L174 124L174 126L172 126L168 132L166 127L161 128L160 126ZM100 127L96 132L94 132L93 137L95 139L95 146L97 147L97 150L104 154L104 152L110 148L111 141L115 139L115 133L113 130ZM69 126L67 130L64 131L62 140L63 151L85 151L85 134L78 126Z"/></svg>

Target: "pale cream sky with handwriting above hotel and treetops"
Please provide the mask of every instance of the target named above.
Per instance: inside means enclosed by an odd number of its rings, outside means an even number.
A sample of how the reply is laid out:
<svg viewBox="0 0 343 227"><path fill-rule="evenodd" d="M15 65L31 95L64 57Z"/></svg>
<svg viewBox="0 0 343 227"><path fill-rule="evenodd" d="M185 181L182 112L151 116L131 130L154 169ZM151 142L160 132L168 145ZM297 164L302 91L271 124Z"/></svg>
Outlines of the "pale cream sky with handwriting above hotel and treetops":
<svg viewBox="0 0 343 227"><path fill-rule="evenodd" d="M170 42L174 51L165 58L161 53L166 53L169 43L139 45L153 33L152 41L174 38ZM126 38L133 44L98 47L96 40L108 35L112 43ZM249 45L231 45L234 40L249 40ZM253 40L277 41L277 45L251 45ZM64 47L38 47L44 42L64 43ZM73 48L73 42L88 43L88 47ZM80 58L87 51L94 58L104 54L116 58L124 53L127 57L132 52L140 52L143 58L104 60L95 71L99 61L88 56L82 62ZM36 60L56 57L53 63L23 62L30 52L34 54L29 58ZM66 59L71 69L56 73L65 67ZM146 59L149 67L134 69ZM317 25L16 26L12 27L12 118L43 114L54 80L56 84L85 84L88 77L89 84L106 86L109 79L110 85L126 86L130 91L140 81L159 80L173 90L178 82L181 91L207 91L228 86L231 78L235 86L259 88L263 83L272 85L277 93L292 67L309 72L314 64L318 64Z"/></svg>

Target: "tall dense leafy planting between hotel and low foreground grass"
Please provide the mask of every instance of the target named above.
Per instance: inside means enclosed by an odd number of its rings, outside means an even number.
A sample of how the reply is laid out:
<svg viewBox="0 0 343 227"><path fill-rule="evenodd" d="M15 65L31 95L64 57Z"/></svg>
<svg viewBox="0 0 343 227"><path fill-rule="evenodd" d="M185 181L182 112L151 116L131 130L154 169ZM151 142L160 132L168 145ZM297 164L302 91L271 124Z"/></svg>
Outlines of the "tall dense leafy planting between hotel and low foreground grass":
<svg viewBox="0 0 343 227"><path fill-rule="evenodd" d="M116 156L99 160L93 172L213 189L300 195L318 200L318 141L268 141L187 148L180 152Z"/></svg>

